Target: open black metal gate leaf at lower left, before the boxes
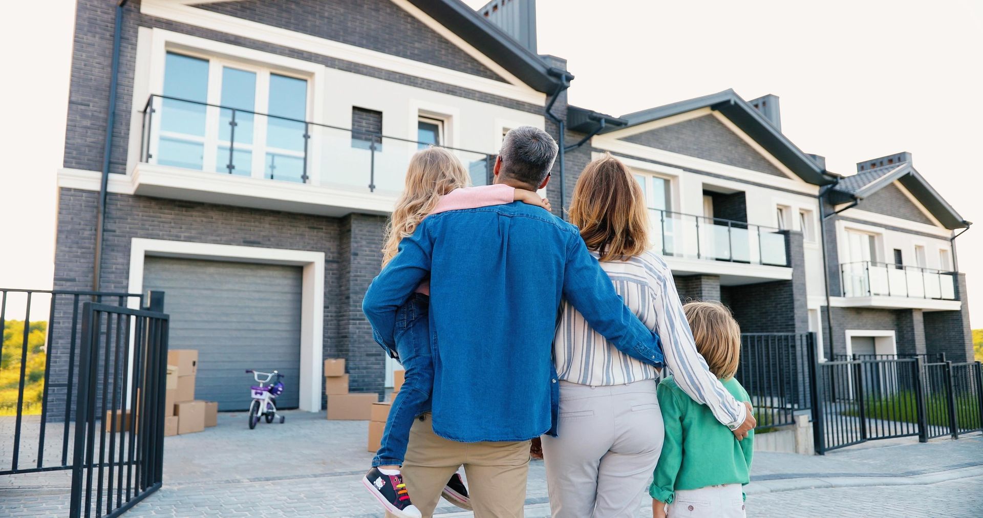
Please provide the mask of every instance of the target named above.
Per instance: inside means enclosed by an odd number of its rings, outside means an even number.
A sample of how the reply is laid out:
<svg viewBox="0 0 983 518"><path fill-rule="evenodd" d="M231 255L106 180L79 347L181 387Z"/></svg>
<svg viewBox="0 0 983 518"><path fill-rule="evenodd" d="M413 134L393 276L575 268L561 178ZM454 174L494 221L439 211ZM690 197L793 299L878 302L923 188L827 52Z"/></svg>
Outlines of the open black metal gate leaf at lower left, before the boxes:
<svg viewBox="0 0 983 518"><path fill-rule="evenodd" d="M119 516L160 488L168 317L90 302L82 313L71 516Z"/></svg>

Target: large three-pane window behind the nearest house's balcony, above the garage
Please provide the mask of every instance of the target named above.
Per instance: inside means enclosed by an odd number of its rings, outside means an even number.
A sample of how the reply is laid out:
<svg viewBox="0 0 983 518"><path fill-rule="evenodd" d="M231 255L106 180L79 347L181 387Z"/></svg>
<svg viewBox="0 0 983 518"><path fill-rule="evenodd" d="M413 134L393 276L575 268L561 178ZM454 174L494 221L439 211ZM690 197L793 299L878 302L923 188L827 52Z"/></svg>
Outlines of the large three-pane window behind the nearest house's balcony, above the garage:
<svg viewBox="0 0 983 518"><path fill-rule="evenodd" d="M168 52L151 155L161 165L304 182L307 91L304 79Z"/></svg>

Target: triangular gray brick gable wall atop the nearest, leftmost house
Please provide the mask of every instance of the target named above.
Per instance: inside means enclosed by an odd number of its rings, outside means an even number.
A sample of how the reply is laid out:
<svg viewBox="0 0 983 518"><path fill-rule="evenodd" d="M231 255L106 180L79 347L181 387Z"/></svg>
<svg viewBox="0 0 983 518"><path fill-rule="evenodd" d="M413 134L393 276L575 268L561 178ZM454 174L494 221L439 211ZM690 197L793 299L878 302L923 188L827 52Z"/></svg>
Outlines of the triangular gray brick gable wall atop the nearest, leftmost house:
<svg viewBox="0 0 983 518"><path fill-rule="evenodd" d="M389 0L240 0L196 7L504 81Z"/></svg>

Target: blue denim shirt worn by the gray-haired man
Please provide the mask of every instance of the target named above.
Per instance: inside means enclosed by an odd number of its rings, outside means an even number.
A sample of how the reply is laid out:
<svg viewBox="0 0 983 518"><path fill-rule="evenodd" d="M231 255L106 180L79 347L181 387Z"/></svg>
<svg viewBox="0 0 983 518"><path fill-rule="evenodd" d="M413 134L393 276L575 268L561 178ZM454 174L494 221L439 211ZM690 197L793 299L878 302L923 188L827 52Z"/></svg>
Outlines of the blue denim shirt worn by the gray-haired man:
<svg viewBox="0 0 983 518"><path fill-rule="evenodd" d="M434 432L517 441L554 432L552 340L567 299L619 350L662 366L659 336L624 306L577 228L519 201L428 216L373 280L362 309L394 349L396 310L430 276Z"/></svg>

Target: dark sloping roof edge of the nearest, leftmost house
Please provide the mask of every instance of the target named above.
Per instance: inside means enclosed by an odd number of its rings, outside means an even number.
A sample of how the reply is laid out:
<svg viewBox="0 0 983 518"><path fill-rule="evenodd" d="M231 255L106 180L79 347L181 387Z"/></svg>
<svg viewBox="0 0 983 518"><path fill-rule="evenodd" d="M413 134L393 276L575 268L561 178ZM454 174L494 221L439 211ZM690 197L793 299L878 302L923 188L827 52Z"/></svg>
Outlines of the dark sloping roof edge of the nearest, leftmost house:
<svg viewBox="0 0 983 518"><path fill-rule="evenodd" d="M526 85L544 93L563 86L566 71L550 66L512 36L485 20L460 0L408 0L440 25L457 34ZM566 74L566 80L573 76Z"/></svg>

